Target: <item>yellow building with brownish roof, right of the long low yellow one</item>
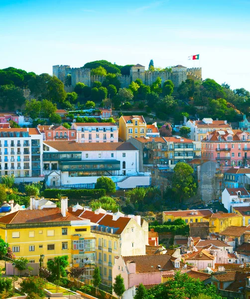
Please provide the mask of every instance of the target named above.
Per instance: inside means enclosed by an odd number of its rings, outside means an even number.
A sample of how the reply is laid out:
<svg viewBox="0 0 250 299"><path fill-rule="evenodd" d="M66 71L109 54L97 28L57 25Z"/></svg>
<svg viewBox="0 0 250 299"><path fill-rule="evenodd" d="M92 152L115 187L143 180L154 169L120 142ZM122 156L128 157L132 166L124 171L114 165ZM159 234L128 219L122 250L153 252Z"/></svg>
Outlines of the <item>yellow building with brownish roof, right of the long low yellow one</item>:
<svg viewBox="0 0 250 299"><path fill-rule="evenodd" d="M229 226L242 226L242 217L235 213L216 213L206 216L210 233L223 232Z"/></svg>

